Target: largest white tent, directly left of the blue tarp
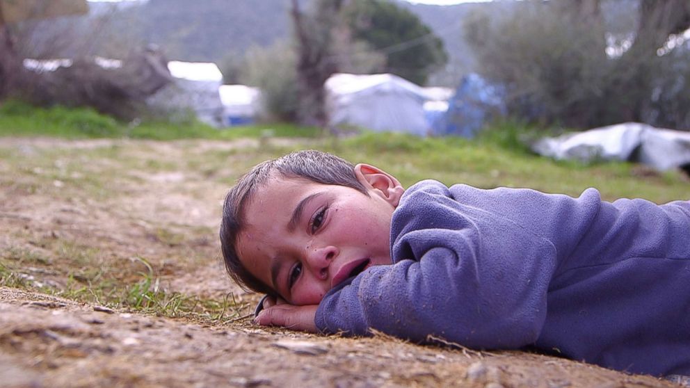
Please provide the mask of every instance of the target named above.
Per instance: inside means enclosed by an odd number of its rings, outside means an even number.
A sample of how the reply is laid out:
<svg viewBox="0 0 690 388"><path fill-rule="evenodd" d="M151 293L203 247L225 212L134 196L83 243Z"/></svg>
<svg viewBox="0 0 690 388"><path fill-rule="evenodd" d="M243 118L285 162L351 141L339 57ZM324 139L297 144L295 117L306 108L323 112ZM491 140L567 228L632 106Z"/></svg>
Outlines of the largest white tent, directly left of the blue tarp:
<svg viewBox="0 0 690 388"><path fill-rule="evenodd" d="M424 89L394 74L333 74L326 81L326 110L332 126L425 135Z"/></svg>

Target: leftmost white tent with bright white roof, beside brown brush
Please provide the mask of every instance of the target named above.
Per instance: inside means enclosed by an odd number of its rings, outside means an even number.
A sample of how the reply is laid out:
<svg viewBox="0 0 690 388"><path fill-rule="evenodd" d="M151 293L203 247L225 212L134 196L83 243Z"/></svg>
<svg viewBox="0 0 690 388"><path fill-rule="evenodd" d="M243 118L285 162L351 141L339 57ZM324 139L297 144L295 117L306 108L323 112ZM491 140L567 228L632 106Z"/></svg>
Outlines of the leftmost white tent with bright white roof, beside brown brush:
<svg viewBox="0 0 690 388"><path fill-rule="evenodd" d="M214 127L223 124L223 104L218 89L223 74L215 63L168 62L175 83L150 97L152 106L175 113L192 111L202 122Z"/></svg>

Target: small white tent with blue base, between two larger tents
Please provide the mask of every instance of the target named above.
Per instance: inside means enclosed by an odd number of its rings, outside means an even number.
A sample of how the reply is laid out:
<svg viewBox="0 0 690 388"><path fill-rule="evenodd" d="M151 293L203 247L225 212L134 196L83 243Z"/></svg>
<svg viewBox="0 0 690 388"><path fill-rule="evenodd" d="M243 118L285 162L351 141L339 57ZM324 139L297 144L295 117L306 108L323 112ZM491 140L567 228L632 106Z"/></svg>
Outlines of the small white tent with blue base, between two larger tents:
<svg viewBox="0 0 690 388"><path fill-rule="evenodd" d="M220 101L223 102L223 123L225 125L254 122L261 111L261 91L246 85L220 86Z"/></svg>

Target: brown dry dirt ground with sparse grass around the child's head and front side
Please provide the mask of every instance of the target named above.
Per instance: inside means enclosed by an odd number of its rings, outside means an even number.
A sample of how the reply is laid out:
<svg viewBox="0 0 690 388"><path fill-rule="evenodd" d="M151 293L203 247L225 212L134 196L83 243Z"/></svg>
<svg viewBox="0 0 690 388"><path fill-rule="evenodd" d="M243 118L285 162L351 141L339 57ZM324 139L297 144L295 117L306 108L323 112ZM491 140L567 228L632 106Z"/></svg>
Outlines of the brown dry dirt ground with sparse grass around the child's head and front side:
<svg viewBox="0 0 690 388"><path fill-rule="evenodd" d="M216 229L230 181L291 147L276 141L0 139L0 385L677 387L544 355L252 325L257 296L225 277Z"/></svg>

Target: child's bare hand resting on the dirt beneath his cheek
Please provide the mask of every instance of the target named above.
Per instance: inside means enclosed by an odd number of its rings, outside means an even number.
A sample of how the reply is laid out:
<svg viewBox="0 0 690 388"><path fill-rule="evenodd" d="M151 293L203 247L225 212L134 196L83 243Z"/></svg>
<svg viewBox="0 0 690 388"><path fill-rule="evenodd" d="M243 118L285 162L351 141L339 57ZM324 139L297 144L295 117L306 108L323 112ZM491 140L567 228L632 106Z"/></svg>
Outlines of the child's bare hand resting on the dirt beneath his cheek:
<svg viewBox="0 0 690 388"><path fill-rule="evenodd" d="M254 321L264 326L282 326L291 330L316 332L316 308L318 305L294 306L284 300L272 298L264 300L264 309L259 312Z"/></svg>

